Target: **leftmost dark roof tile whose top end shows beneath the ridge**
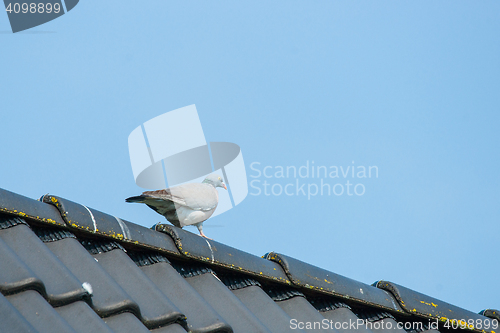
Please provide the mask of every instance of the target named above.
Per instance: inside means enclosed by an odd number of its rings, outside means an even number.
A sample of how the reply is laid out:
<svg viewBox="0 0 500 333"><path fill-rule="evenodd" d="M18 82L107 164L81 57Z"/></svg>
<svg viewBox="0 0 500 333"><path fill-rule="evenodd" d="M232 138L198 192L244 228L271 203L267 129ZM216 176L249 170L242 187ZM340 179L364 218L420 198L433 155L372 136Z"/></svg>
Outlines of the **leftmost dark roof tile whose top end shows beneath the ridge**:
<svg viewBox="0 0 500 333"><path fill-rule="evenodd" d="M0 230L0 238L43 281L51 304L59 306L89 297L82 283L28 226L19 224Z"/></svg>

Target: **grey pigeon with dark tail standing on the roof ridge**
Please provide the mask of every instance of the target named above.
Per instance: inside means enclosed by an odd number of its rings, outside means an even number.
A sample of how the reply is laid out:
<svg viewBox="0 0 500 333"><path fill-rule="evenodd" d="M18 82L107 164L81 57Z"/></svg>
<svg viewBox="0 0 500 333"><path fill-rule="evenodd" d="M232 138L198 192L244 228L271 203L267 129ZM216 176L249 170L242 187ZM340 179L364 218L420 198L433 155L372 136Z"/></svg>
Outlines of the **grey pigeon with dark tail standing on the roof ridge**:
<svg viewBox="0 0 500 333"><path fill-rule="evenodd" d="M217 187L227 190L222 178L211 174L201 183L146 191L139 196L127 198L125 201L146 204L158 214L165 216L176 227L195 225L200 236L208 238L203 233L203 222L212 216L217 208L219 203Z"/></svg>

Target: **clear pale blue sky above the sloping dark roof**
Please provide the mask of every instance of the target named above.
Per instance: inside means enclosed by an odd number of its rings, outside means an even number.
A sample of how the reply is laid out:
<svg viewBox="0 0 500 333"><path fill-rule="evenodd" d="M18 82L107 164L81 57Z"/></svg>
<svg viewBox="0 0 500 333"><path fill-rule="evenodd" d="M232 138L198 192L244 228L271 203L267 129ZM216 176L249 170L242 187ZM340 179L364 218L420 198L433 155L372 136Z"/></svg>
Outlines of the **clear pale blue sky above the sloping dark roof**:
<svg viewBox="0 0 500 333"><path fill-rule="evenodd" d="M124 201L142 191L127 138L196 104L207 141L241 147L249 181L253 162L379 171L350 179L362 196L249 194L205 223L209 237L474 312L499 309L499 10L496 1L81 1L17 34L0 14L0 187L148 227L164 221Z"/></svg>

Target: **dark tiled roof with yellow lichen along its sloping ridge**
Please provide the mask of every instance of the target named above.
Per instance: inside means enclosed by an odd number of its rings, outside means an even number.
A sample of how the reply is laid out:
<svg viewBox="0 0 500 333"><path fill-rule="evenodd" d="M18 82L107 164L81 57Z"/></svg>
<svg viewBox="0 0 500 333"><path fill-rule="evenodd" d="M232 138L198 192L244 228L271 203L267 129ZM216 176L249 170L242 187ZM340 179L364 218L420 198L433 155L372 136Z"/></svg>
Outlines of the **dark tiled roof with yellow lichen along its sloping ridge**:
<svg viewBox="0 0 500 333"><path fill-rule="evenodd" d="M392 282L368 285L284 254L154 229L0 189L0 330L493 333L500 320L496 310L476 314Z"/></svg>

